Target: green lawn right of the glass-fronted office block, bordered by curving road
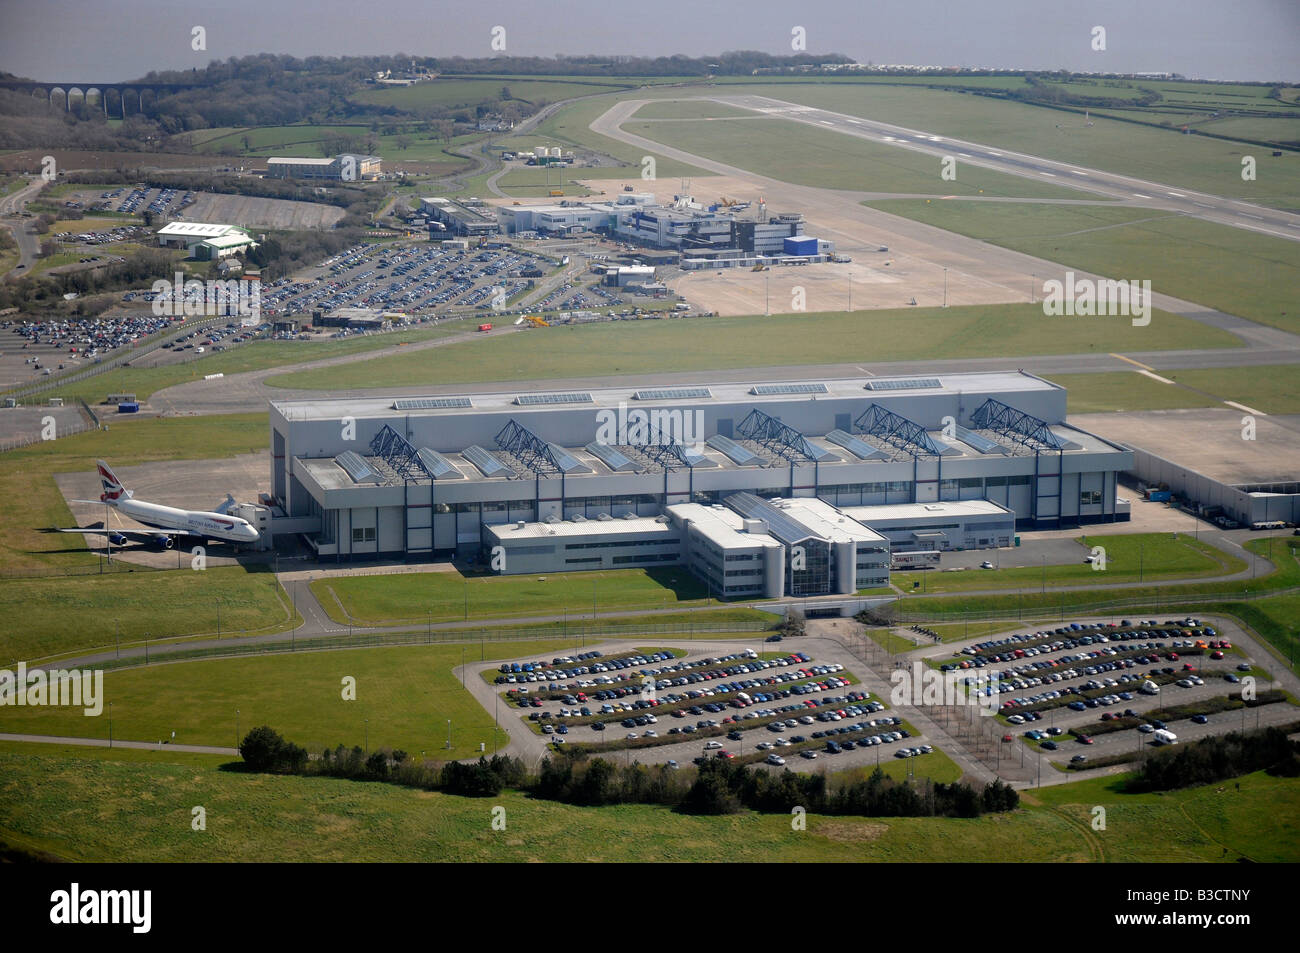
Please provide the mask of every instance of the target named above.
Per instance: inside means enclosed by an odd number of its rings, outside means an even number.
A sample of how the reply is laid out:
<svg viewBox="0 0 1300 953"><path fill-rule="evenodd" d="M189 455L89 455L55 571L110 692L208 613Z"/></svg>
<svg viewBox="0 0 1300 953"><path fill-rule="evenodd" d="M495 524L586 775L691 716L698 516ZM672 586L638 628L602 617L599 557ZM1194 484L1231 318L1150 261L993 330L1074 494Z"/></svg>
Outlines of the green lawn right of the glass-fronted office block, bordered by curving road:
<svg viewBox="0 0 1300 953"><path fill-rule="evenodd" d="M896 572L890 581L911 590L920 582L927 593L959 593L982 589L1030 589L1044 592L1062 585L1113 585L1115 582L1153 582L1165 579L1196 579L1240 572L1247 563L1209 543L1179 533L1134 533L1128 536L1080 536L1079 563L1071 566L1023 566L998 569L965 569L962 572ZM1106 568L1093 569L1083 562L1093 546L1106 551ZM1001 558L1010 563L1014 550Z"/></svg>

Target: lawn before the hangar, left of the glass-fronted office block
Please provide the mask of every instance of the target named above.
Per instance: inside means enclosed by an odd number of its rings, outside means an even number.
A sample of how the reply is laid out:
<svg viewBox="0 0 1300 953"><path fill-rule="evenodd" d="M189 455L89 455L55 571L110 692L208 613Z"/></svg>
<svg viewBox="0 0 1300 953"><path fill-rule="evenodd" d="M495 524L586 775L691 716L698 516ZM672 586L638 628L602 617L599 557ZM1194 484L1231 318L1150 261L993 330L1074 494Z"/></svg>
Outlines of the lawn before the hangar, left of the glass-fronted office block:
<svg viewBox="0 0 1300 953"><path fill-rule="evenodd" d="M685 568L462 576L451 572L337 576L312 582L334 621L455 621L528 615L608 612L707 605L705 585Z"/></svg>

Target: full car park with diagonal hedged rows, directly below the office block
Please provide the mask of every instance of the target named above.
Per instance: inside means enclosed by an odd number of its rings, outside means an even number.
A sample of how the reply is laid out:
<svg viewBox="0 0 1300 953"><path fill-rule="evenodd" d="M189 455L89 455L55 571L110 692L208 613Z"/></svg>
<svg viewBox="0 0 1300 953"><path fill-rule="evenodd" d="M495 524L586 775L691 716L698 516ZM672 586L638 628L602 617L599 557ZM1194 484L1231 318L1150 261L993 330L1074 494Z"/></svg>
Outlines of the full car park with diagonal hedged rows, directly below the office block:
<svg viewBox="0 0 1300 953"><path fill-rule="evenodd" d="M546 748L682 767L710 758L814 770L933 746L841 662L806 651L585 651L484 670Z"/></svg>

